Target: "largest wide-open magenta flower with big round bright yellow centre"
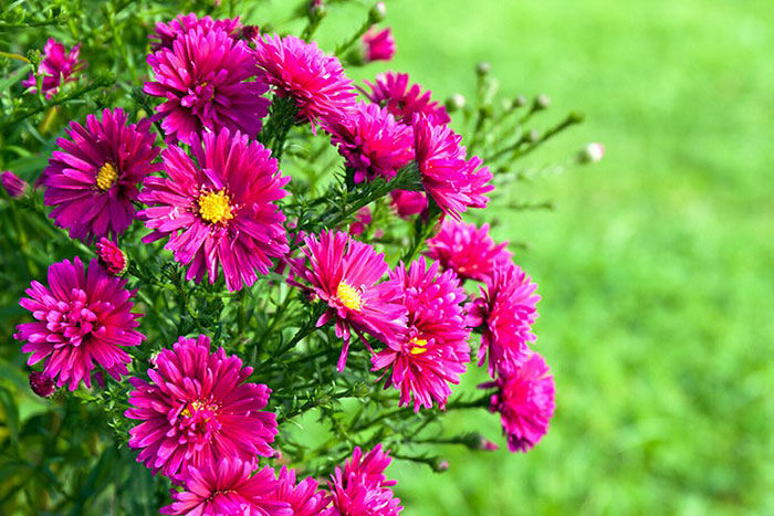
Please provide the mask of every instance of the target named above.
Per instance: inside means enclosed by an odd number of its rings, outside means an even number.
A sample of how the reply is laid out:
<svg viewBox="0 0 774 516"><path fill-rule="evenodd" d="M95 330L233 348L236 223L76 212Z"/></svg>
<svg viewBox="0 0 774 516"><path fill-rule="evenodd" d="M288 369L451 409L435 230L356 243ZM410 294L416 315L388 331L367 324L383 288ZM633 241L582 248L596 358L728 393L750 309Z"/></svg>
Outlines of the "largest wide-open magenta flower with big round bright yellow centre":
<svg viewBox="0 0 774 516"><path fill-rule="evenodd" d="M154 232L143 241L170 235L166 248L190 264L188 280L199 283L207 272L215 283L222 267L230 291L250 286L255 271L268 274L271 259L289 252L276 201L287 194L290 177L268 149L239 131L206 133L203 149L197 143L191 151L198 165L169 147L161 155L168 178L146 179L140 200L150 208L140 215Z"/></svg>

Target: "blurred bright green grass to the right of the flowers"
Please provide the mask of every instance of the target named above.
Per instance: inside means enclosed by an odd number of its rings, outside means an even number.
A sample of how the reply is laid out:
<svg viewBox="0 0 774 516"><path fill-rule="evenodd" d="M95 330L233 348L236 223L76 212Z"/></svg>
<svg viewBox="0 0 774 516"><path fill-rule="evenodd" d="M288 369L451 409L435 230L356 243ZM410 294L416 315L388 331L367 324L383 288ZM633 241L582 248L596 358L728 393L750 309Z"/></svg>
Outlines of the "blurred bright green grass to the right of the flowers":
<svg viewBox="0 0 774 516"><path fill-rule="evenodd" d="M488 214L530 244L552 431L527 455L447 449L442 475L391 466L411 514L774 512L772 19L751 0L390 2L390 67L439 98L487 60L552 116L586 113L533 165L607 149L516 187L555 212ZM504 444L494 417L452 422Z"/></svg>

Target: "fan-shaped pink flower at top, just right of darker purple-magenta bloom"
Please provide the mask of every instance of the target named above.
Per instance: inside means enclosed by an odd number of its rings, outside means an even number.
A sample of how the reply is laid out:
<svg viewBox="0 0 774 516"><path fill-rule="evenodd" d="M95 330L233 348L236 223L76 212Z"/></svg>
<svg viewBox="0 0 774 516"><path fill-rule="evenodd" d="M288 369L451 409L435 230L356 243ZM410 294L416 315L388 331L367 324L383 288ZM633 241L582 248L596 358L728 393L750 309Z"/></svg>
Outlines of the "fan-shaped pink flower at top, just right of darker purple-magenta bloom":
<svg viewBox="0 0 774 516"><path fill-rule="evenodd" d="M316 43L276 34L254 41L259 80L274 86L279 97L292 97L299 118L315 124L339 118L355 107L355 89L342 63Z"/></svg>

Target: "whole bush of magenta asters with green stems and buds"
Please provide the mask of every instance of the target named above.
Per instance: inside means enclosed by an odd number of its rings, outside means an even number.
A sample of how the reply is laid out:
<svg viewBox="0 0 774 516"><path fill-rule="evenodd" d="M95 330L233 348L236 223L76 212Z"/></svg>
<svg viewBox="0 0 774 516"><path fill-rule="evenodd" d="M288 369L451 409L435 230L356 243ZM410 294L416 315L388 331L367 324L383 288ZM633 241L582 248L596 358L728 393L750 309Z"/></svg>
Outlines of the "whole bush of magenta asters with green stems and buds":
<svg viewBox="0 0 774 516"><path fill-rule="evenodd" d="M322 1L293 11L300 35L226 7L156 21L155 2L116 3L107 56L97 27L8 54L27 69L7 81L22 101L6 145L44 160L0 158L4 253L32 280L13 337L32 391L64 410L40 424L95 440L90 465L44 446L45 475L97 477L36 509L83 508L81 489L125 470L118 485L151 494L125 510L395 515L393 459L441 472L433 443L496 447L443 429L451 410L492 412L512 452L537 444L554 413L537 285L474 221L530 175L517 158L582 117L527 128L547 98L495 102L485 63L470 103L405 73L354 83L343 64L396 52L381 2L334 52L313 41L336 7ZM475 367L491 381L454 389Z"/></svg>

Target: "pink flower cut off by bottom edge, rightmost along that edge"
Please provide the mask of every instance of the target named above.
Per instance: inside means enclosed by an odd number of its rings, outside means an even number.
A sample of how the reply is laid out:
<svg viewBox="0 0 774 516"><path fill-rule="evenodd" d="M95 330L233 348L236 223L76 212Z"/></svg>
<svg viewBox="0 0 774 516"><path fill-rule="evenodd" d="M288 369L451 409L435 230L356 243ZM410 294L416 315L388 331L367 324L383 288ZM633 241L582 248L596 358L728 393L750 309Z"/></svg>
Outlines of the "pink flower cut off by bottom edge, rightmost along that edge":
<svg viewBox="0 0 774 516"><path fill-rule="evenodd" d="M356 446L344 468L336 467L328 486L338 516L396 516L404 509L390 488L396 481L384 474L390 461L381 444L366 456Z"/></svg>

